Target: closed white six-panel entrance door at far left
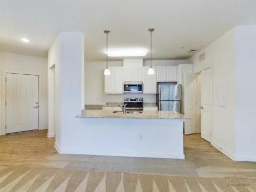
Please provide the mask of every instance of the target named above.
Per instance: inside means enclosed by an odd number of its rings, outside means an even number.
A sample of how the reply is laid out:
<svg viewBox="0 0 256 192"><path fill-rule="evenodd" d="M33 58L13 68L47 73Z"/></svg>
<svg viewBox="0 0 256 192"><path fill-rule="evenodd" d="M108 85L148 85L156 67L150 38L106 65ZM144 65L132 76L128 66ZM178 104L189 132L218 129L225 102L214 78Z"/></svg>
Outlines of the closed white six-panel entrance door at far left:
<svg viewBox="0 0 256 192"><path fill-rule="evenodd" d="M6 133L38 129L38 76L6 74Z"/></svg>

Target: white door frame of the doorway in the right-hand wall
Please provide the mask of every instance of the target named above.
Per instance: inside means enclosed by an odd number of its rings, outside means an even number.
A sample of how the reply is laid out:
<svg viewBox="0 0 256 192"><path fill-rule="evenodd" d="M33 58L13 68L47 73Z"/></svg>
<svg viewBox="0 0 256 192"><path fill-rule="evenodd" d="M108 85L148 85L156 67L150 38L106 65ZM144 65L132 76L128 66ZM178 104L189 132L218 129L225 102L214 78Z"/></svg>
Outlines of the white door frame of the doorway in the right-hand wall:
<svg viewBox="0 0 256 192"><path fill-rule="evenodd" d="M212 141L214 140L214 63L211 63L211 65L204 70L207 70L207 69L210 69L210 73L211 73L211 95L210 95L210 97L211 97L210 98L210 102L211 102L210 133L211 134L210 134L209 142L212 144ZM202 73L202 71L204 71L204 70L201 70L200 73ZM201 83L201 86L202 86L202 83ZM201 87L201 93L202 93L202 87ZM202 134L202 124L201 124L201 134Z"/></svg>

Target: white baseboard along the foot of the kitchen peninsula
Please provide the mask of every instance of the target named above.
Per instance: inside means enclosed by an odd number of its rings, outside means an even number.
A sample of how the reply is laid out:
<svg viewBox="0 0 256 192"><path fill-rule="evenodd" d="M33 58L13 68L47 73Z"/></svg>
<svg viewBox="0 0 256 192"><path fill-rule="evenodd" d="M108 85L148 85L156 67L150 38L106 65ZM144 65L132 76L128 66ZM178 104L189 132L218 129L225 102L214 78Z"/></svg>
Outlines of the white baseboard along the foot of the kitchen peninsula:
<svg viewBox="0 0 256 192"><path fill-rule="evenodd" d="M86 151L86 150L60 150L60 148L57 146L56 143L54 146L59 154L185 159L184 154L154 154L154 153L98 152L98 151Z"/></svg>

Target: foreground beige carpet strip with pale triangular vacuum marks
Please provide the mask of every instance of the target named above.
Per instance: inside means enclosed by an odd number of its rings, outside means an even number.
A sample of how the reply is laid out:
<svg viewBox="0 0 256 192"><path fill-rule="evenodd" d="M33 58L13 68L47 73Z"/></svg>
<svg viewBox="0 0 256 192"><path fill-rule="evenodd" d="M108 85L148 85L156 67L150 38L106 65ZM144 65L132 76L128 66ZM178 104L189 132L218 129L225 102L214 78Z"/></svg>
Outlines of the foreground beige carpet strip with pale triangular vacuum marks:
<svg viewBox="0 0 256 192"><path fill-rule="evenodd" d="M112 172L83 172L19 166L0 172L0 192L7 191L255 191L255 179L178 177Z"/></svg>

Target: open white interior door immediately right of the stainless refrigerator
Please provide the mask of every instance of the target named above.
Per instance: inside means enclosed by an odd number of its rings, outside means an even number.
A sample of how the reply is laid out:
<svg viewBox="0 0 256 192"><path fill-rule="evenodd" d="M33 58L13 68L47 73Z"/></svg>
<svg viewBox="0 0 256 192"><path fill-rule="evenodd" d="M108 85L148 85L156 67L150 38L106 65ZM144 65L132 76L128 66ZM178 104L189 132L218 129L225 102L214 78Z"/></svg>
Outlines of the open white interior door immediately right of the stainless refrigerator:
<svg viewBox="0 0 256 192"><path fill-rule="evenodd" d="M185 73L184 76L184 115L189 118L184 123L185 135L197 131L197 76L194 73Z"/></svg>

